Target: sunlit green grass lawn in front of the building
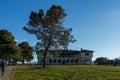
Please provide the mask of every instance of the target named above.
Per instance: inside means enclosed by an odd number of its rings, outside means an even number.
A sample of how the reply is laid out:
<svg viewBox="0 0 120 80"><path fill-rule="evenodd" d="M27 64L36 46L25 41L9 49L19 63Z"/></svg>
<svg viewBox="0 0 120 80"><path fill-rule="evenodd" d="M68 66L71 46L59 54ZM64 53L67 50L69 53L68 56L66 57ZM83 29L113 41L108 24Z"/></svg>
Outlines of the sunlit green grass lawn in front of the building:
<svg viewBox="0 0 120 80"><path fill-rule="evenodd" d="M120 80L120 67L95 65L16 66L10 80Z"/></svg>

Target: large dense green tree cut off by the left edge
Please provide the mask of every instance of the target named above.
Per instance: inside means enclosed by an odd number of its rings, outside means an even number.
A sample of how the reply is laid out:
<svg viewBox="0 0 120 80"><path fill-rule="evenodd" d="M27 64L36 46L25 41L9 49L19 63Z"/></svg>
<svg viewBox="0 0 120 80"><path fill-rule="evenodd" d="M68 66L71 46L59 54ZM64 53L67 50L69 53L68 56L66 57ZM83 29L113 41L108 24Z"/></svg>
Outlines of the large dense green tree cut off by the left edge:
<svg viewBox="0 0 120 80"><path fill-rule="evenodd" d="M16 46L15 38L8 30L0 30L0 59L8 60L15 59L15 55L19 55L20 50Z"/></svg>

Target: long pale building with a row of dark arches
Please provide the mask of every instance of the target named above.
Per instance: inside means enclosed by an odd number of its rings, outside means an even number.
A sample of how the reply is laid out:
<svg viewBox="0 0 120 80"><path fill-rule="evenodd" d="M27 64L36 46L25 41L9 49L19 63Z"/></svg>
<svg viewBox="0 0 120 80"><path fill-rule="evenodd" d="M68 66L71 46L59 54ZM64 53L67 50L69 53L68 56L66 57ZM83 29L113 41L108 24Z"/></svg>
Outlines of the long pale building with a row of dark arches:
<svg viewBox="0 0 120 80"><path fill-rule="evenodd" d="M46 64L92 64L93 52L91 50L59 50L49 51L46 55ZM43 64L43 51L37 51L38 64ZM59 55L55 55L59 53Z"/></svg>

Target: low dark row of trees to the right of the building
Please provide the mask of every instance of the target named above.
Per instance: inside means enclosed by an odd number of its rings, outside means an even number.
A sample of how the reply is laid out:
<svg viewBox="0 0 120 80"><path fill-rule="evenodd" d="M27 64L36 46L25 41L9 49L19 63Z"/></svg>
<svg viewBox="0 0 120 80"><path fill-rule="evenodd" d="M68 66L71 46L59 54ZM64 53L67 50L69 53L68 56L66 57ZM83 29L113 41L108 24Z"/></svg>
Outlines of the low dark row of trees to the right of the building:
<svg viewBox="0 0 120 80"><path fill-rule="evenodd" d="M113 66L119 66L120 65L120 59L108 59L107 57L98 57L94 61L96 65L113 65Z"/></svg>

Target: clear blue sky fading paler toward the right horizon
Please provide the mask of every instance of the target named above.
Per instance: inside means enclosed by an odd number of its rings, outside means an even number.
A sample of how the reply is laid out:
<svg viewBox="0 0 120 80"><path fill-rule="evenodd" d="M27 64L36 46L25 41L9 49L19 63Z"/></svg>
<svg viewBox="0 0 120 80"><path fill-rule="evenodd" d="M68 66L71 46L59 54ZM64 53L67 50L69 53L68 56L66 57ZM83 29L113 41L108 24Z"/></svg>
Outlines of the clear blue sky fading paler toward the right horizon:
<svg viewBox="0 0 120 80"><path fill-rule="evenodd" d="M120 0L0 0L0 29L9 30L18 43L35 46L36 37L23 27L31 11L47 11L53 4L65 9L64 27L72 28L77 40L69 49L95 51L93 60L120 57Z"/></svg>

